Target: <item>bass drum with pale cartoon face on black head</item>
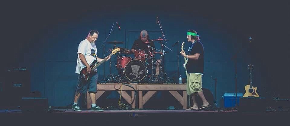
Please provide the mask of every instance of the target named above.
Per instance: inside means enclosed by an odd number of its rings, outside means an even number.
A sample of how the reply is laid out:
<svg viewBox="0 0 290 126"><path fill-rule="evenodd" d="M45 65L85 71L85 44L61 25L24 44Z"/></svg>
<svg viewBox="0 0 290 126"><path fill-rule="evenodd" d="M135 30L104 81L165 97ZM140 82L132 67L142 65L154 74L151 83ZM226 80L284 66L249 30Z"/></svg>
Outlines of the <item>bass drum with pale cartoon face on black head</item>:
<svg viewBox="0 0 290 126"><path fill-rule="evenodd" d="M130 81L141 81L147 75L145 64L141 60L131 60L126 64L125 76Z"/></svg>

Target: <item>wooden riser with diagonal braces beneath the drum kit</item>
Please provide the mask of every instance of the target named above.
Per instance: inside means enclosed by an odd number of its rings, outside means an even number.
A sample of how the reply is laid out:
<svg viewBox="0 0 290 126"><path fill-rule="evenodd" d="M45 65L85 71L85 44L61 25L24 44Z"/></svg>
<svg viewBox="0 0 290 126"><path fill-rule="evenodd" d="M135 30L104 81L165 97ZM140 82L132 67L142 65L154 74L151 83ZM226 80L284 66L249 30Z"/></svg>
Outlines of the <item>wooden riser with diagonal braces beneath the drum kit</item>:
<svg viewBox="0 0 290 126"><path fill-rule="evenodd" d="M143 108L143 105L153 96L153 94L156 93L156 91L169 91L172 96L179 101L180 104L182 104L183 109L187 108L187 95L186 95L186 84L129 84L132 87L135 88L136 91L138 91L139 96L143 96L143 91L148 91L143 97L139 97L138 104L139 104L139 109ZM96 93L96 99L100 98L105 91L118 91L119 94L121 94L121 84L113 84L113 83L108 83L108 84L98 84L98 92ZM118 89L118 90L116 90ZM131 97L127 92L125 91L131 91L131 96L134 96L134 89L127 86L123 85L122 86L122 97L128 102L132 103L132 108L136 108L136 99L135 96ZM182 91L182 96L177 92L177 91ZM89 96L89 94L88 94ZM135 100L134 100L135 99ZM88 100L88 106L87 108L91 108L91 99L90 97L87 97Z"/></svg>

